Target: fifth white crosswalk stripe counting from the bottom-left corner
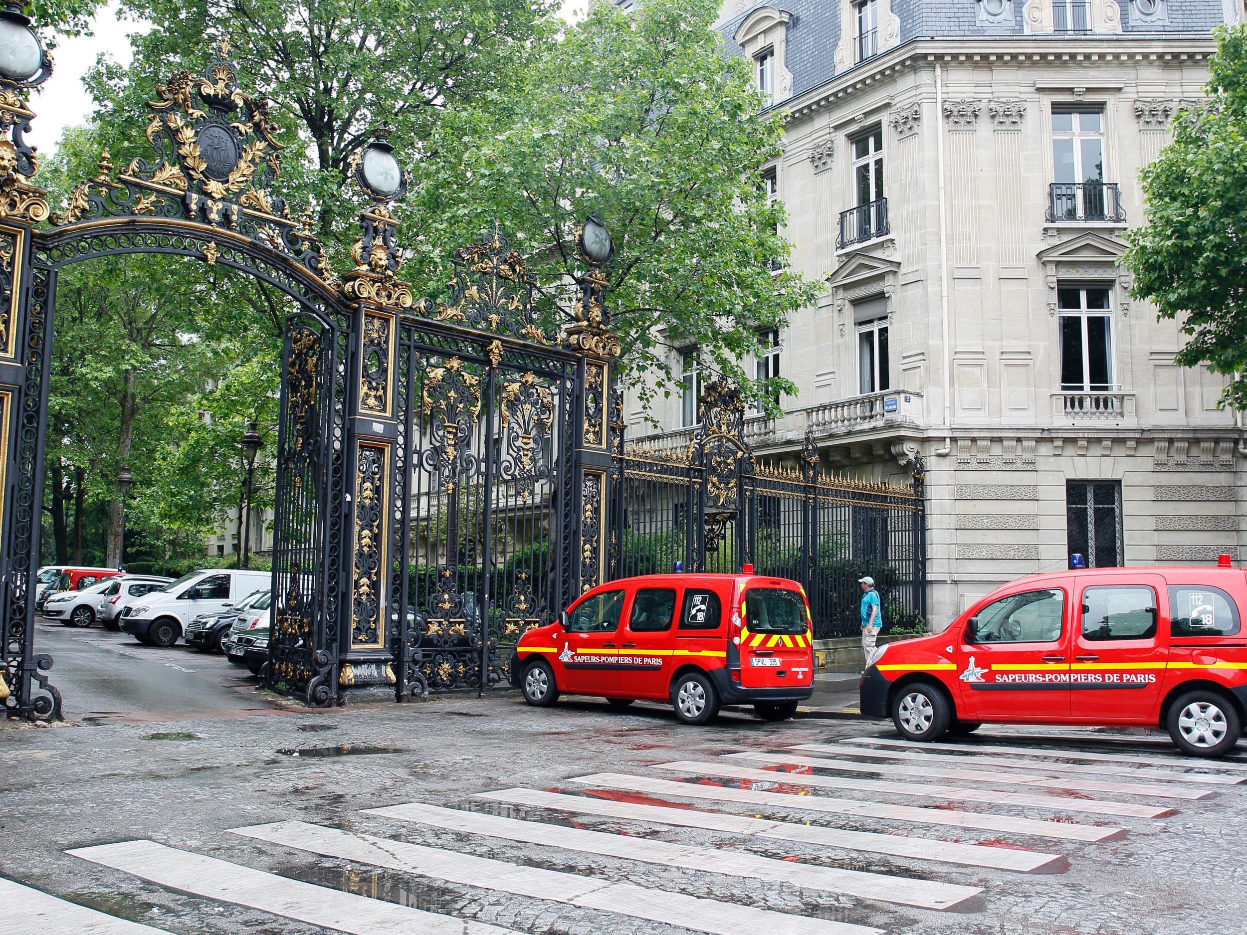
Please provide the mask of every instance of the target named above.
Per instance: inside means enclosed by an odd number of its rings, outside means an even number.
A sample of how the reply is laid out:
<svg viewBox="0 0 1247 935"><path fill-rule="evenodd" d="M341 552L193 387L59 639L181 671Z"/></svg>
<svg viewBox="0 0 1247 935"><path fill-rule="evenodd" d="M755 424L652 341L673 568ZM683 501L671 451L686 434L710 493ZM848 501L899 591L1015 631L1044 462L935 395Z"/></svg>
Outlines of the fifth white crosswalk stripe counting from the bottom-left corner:
<svg viewBox="0 0 1247 935"><path fill-rule="evenodd" d="M823 844L831 848L845 848L848 850L862 850L873 854L941 860L971 866L990 866L1001 870L1031 871L1061 860L1056 854L1036 854L1029 850L984 848L975 844L950 844L949 842L929 840L927 838L902 838L894 834L847 832L823 825L774 822L749 815L729 815L722 812L697 812L675 805L646 805L587 795L566 795L536 789L484 792L478 793L476 798L508 802L514 805L539 805L541 808L580 814L607 815L610 818L673 824L687 828L708 828L716 832L736 832L759 838L774 838L803 844ZM955 856L959 859L953 859L949 848L955 850Z"/></svg>

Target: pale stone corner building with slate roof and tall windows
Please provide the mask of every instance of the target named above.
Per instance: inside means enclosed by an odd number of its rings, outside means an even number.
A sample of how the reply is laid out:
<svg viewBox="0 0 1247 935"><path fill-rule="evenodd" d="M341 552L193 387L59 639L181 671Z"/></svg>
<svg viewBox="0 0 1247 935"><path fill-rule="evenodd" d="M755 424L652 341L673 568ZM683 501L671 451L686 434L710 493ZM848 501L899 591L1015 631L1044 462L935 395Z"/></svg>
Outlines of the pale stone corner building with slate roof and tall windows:
<svg viewBox="0 0 1247 935"><path fill-rule="evenodd" d="M929 492L930 623L1067 565L1247 557L1241 416L1175 365L1173 322L1119 266L1140 170L1202 97L1242 0L728 0L728 49L787 113L763 167L791 262L824 278L759 373L759 455ZM697 385L693 355L672 349ZM686 363L687 362L687 363ZM692 389L650 406L681 444ZM648 435L640 403L628 436Z"/></svg>

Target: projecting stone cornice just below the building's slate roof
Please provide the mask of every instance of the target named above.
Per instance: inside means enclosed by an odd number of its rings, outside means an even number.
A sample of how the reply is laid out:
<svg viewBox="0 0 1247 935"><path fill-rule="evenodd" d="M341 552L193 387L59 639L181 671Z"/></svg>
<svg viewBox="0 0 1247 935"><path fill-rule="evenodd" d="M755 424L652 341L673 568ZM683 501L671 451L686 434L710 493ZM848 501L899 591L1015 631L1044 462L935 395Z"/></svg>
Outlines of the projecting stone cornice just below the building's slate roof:
<svg viewBox="0 0 1247 935"><path fill-rule="evenodd" d="M1134 37L1015 36L1010 39L913 39L895 49L835 75L818 87L782 101L784 126L814 117L852 95L870 90L882 80L922 65L934 64L1120 64L1142 61L1205 61L1217 50L1207 34ZM1051 82L1046 82L1051 84ZM1046 86L1046 85L1045 85Z"/></svg>

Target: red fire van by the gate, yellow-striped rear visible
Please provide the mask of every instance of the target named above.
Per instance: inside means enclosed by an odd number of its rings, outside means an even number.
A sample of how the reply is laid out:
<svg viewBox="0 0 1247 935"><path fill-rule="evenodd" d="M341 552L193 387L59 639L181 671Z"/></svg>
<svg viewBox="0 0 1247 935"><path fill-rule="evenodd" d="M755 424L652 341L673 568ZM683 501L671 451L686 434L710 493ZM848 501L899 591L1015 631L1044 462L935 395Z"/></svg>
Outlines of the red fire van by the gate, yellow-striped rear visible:
<svg viewBox="0 0 1247 935"><path fill-rule="evenodd" d="M721 704L782 721L814 691L809 605L796 581L749 566L611 581L524 635L511 682L541 707L597 694L617 707L667 701L690 724L713 721Z"/></svg>

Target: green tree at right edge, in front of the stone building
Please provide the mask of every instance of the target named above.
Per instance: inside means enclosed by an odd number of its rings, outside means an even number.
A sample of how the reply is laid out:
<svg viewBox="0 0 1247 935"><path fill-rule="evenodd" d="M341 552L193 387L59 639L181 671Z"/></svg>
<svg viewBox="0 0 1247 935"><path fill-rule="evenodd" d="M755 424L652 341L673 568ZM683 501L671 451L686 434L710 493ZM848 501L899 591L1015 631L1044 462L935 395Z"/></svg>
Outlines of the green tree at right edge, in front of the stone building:
<svg viewBox="0 0 1247 935"><path fill-rule="evenodd" d="M1147 223L1127 233L1134 295L1190 335L1175 358L1232 375L1225 403L1247 408L1247 27L1222 29L1207 102L1171 122L1142 172Z"/></svg>

